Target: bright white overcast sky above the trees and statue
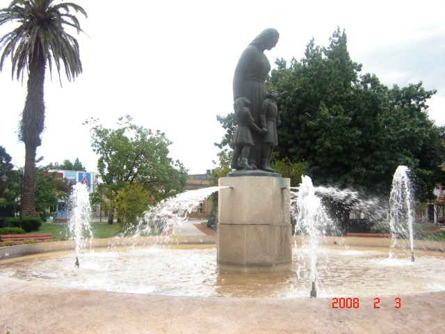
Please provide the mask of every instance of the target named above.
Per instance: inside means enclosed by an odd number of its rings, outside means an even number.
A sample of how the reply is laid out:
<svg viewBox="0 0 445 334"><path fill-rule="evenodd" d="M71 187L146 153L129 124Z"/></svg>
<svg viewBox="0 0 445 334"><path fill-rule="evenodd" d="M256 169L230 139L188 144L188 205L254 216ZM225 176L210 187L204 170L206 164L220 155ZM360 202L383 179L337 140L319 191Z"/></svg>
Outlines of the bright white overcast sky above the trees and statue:
<svg viewBox="0 0 445 334"><path fill-rule="evenodd" d="M79 158L97 170L86 118L111 127L128 113L133 122L165 132L170 157L189 173L213 167L224 134L216 115L232 111L233 73L243 49L261 31L280 32L275 49L290 61L304 57L314 37L328 46L337 29L346 29L348 51L389 87L423 81L437 89L430 118L445 125L445 1L148 1L72 0L88 13L79 17L88 36L79 35L83 74L75 81L58 76L45 84L46 129L37 156L41 164ZM4 8L9 0L0 0ZM0 35L13 29L3 25ZM17 126L26 97L12 81L10 59L0 74L0 145L24 165Z"/></svg>

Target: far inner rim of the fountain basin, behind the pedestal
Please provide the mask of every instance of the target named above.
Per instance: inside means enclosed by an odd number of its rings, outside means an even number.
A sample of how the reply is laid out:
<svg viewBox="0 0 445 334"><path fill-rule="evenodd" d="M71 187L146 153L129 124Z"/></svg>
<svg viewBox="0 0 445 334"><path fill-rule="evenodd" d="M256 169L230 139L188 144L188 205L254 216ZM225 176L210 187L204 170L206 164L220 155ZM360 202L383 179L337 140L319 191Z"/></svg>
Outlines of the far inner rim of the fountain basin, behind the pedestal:
<svg viewBox="0 0 445 334"><path fill-rule="evenodd" d="M292 245L298 246L302 243L305 237L293 236L291 238ZM202 244L216 244L216 235L202 235L202 236L170 236L159 240L159 237L120 237L108 239L92 239L91 243L85 248L109 248L109 247L125 247L125 246L154 246L161 245L202 245ZM391 247L390 238L375 238L375 237L320 237L320 245L330 245L343 248L345 246L367 246L367 247ZM32 255L38 253L49 253L58 250L74 250L75 241L51 241L41 242L38 244L23 244L16 246L6 246L0 248L0 261L10 259L13 257L21 257L25 255ZM397 248L410 248L410 240L398 239ZM415 249L419 250L434 250L445 252L445 241L426 241L416 240L414 244Z"/></svg>

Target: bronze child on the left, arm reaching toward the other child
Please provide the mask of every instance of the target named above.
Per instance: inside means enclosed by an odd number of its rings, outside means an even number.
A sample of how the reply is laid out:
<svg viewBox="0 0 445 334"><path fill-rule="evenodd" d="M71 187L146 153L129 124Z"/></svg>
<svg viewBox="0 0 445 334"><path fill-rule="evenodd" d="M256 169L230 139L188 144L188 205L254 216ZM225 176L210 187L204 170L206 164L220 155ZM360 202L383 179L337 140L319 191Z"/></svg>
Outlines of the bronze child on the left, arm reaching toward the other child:
<svg viewBox="0 0 445 334"><path fill-rule="evenodd" d="M261 136L267 133L266 128L260 129L252 118L250 109L248 106L250 101L245 97L238 97L234 102L234 111L236 119L236 129L232 139L234 144L234 152L232 155L232 162L230 168L232 169L245 169L252 170L253 168L249 166L248 157L250 153L250 148L254 145L252 132L257 132ZM241 162L238 164L238 158L241 156Z"/></svg>

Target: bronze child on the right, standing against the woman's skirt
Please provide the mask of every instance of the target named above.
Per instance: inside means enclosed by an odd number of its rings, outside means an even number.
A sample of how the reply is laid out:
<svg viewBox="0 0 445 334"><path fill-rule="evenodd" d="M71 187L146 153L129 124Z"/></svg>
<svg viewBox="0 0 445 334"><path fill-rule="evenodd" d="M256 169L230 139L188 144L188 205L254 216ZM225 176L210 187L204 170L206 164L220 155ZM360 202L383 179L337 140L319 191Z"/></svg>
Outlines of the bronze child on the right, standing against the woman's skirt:
<svg viewBox="0 0 445 334"><path fill-rule="evenodd" d="M263 145L261 147L261 164L259 168L270 173L275 173L275 169L270 167L270 158L272 157L273 149L278 145L277 125L280 125L277 98L277 92L270 90L266 96L266 100L261 104L261 110L259 112L261 128L267 129L267 134L263 138Z"/></svg>

